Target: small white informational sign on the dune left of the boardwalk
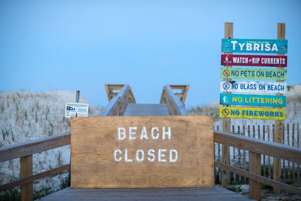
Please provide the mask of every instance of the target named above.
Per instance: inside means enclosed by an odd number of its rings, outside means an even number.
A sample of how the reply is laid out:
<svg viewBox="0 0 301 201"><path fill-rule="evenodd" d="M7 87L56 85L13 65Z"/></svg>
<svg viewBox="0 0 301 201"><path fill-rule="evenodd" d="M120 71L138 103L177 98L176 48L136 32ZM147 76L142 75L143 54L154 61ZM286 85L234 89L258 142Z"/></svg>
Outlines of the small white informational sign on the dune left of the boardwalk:
<svg viewBox="0 0 301 201"><path fill-rule="evenodd" d="M88 117L89 104L66 102L65 118Z"/></svg>

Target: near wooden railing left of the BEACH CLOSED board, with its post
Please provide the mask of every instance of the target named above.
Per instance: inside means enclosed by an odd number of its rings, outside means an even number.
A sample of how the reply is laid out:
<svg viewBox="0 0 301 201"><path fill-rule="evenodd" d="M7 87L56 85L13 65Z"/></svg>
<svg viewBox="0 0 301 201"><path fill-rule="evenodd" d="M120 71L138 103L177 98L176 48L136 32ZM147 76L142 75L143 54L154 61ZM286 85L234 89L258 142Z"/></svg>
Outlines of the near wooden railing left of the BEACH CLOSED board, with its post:
<svg viewBox="0 0 301 201"><path fill-rule="evenodd" d="M0 148L0 162L20 158L21 179L0 186L0 191L21 185L21 200L33 199L33 181L70 169L63 165L33 175L33 154L70 144L70 132Z"/></svg>

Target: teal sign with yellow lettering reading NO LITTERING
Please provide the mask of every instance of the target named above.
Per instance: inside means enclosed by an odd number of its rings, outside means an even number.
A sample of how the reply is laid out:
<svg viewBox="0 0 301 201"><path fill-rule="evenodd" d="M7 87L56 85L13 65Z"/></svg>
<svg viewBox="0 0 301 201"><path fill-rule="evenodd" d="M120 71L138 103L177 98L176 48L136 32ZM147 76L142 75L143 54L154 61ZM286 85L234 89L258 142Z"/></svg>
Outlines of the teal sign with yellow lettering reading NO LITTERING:
<svg viewBox="0 0 301 201"><path fill-rule="evenodd" d="M283 95L220 94L220 105L285 107Z"/></svg>

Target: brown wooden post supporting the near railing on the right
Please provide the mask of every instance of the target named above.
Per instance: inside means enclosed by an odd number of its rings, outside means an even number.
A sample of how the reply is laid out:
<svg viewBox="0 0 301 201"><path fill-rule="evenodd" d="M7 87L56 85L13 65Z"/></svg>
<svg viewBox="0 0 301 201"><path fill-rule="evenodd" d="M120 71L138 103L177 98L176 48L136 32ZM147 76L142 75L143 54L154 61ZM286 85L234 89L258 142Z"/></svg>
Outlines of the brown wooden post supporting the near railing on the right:
<svg viewBox="0 0 301 201"><path fill-rule="evenodd" d="M261 175L261 154L249 152L249 171ZM261 183L249 179L249 198L261 200Z"/></svg>

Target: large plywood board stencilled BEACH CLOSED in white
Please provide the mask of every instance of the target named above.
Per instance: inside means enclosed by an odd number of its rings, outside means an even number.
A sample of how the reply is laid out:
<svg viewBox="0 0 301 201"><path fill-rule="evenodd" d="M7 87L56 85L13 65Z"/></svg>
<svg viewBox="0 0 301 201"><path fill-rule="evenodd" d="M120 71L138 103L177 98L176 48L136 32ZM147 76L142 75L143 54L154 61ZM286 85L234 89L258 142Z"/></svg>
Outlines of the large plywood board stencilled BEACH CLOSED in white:
<svg viewBox="0 0 301 201"><path fill-rule="evenodd" d="M71 118L71 188L214 186L210 116Z"/></svg>

